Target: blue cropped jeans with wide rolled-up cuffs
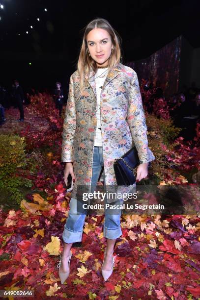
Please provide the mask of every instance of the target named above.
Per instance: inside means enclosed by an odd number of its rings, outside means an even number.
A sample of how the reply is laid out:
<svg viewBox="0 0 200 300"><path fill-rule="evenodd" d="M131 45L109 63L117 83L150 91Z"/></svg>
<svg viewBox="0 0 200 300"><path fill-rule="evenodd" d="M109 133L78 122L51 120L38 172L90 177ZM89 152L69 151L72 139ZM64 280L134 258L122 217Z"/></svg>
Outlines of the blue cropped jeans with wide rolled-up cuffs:
<svg viewBox="0 0 200 300"><path fill-rule="evenodd" d="M102 171L103 163L103 150L102 147L94 146L94 156L93 156L93 172L91 180L91 193L96 189L97 181ZM104 186L105 185L105 174L104 174ZM64 230L62 234L63 241L65 243L75 243L82 241L83 227L85 223L86 214L77 214L77 200L71 198L69 202L69 214L64 225ZM108 239L116 239L122 235L120 226L121 214L109 214L105 212L104 221L104 237Z"/></svg>

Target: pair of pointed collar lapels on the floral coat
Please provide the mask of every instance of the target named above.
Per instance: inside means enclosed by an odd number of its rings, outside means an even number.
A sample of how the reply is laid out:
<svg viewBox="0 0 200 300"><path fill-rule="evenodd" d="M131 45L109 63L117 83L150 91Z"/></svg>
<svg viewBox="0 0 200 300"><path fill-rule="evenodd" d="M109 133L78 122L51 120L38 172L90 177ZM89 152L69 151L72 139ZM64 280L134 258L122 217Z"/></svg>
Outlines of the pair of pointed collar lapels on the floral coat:
<svg viewBox="0 0 200 300"><path fill-rule="evenodd" d="M125 72L125 70L123 69L122 66L123 65L121 63L118 63L118 65L114 68L114 70L107 75L107 77L106 77L106 79L104 81L102 90L105 88L105 86L109 82L111 82L116 76L118 76L120 74L120 72ZM96 84L95 84L95 79L94 79L95 76L94 75L95 75L94 71L90 70L88 79L87 79L86 75L85 75L85 78L86 78L87 82L89 83L89 85L91 86L91 88L92 88L92 90L94 92L95 97L97 98Z"/></svg>

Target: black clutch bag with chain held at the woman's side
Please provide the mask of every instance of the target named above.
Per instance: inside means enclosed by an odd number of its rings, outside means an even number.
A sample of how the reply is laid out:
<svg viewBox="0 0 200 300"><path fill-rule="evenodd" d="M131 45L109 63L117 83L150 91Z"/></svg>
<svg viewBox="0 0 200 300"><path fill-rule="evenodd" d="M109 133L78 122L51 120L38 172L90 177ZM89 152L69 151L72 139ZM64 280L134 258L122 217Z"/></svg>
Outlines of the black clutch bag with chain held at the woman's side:
<svg viewBox="0 0 200 300"><path fill-rule="evenodd" d="M137 171L140 165L136 146L128 150L119 158L114 159L114 173L117 185L132 185L136 182Z"/></svg>

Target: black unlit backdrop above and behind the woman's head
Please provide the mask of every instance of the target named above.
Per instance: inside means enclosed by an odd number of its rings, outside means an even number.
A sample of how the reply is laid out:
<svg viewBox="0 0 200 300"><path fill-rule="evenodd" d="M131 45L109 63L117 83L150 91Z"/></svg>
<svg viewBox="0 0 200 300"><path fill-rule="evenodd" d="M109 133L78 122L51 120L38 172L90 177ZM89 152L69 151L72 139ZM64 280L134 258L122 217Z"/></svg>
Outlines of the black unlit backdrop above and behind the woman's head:
<svg viewBox="0 0 200 300"><path fill-rule="evenodd" d="M0 0L0 4L4 5L0 83L6 88L17 78L25 90L51 89L60 81L66 92L84 27L96 17L107 19L121 36L123 64L148 57L179 35L193 48L200 47L198 0Z"/></svg>

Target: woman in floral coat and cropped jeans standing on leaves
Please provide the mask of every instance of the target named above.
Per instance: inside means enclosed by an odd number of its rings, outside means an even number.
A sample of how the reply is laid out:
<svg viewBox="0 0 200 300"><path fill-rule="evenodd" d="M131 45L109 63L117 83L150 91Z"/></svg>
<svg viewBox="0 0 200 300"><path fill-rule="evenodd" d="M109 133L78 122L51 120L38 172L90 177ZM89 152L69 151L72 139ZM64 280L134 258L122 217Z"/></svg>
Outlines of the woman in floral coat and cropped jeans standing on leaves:
<svg viewBox="0 0 200 300"><path fill-rule="evenodd" d="M77 185L90 186L94 191L102 168L105 185L116 185L114 158L134 145L141 163L137 180L147 176L148 163L155 159L148 148L137 74L120 63L120 55L119 38L109 22L99 18L91 21L85 29L78 70L70 76L62 133L64 181L67 185L67 177L71 175L74 184L62 235L61 283L69 275L70 249L74 242L82 240L86 218L86 214L76 211ZM121 235L120 214L105 214L107 248L102 265L105 280L113 272L114 244Z"/></svg>

